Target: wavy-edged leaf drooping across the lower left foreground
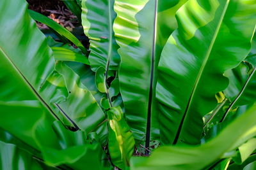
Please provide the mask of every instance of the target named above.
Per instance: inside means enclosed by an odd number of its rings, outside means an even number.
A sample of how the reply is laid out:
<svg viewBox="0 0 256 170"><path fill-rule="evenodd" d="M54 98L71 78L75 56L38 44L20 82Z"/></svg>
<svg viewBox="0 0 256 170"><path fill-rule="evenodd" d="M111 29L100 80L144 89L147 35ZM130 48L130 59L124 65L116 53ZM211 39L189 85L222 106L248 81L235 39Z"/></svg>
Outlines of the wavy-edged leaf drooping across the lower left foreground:
<svg viewBox="0 0 256 170"><path fill-rule="evenodd" d="M92 159L89 162L92 164L88 166L100 166L99 145L84 143L86 136L83 131L68 131L60 122L56 122L52 129L53 119L45 114L47 111L42 104L36 101L9 101L0 102L0 105L1 127L40 150L46 164L69 164L70 167L83 169L79 161L88 160L86 157L91 155L90 150L93 150L95 157L89 156Z"/></svg>

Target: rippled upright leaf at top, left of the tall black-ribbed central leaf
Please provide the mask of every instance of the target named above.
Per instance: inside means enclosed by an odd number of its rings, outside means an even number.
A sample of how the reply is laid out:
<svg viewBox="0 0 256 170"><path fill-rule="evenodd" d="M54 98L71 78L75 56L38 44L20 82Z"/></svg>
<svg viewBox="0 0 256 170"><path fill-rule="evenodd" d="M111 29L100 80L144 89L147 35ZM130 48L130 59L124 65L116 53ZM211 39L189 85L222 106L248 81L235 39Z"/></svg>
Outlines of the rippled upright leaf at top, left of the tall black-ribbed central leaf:
<svg viewBox="0 0 256 170"><path fill-rule="evenodd" d="M120 57L117 53L113 20L113 0L83 0L82 24L84 34L90 39L89 61L93 71L102 66L108 70L116 70Z"/></svg>

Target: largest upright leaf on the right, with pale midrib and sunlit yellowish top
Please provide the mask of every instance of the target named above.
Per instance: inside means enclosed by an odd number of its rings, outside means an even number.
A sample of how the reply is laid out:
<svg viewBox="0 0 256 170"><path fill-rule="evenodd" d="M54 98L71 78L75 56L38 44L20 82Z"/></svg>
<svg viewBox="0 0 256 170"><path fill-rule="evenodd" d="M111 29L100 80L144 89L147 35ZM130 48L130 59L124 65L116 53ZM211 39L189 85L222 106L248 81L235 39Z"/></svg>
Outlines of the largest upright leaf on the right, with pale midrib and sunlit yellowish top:
<svg viewBox="0 0 256 170"><path fill-rule="evenodd" d="M223 73L250 52L255 10L251 0L191 0L179 9L178 29L158 66L164 144L199 143L202 117L216 106L215 94L228 85Z"/></svg>

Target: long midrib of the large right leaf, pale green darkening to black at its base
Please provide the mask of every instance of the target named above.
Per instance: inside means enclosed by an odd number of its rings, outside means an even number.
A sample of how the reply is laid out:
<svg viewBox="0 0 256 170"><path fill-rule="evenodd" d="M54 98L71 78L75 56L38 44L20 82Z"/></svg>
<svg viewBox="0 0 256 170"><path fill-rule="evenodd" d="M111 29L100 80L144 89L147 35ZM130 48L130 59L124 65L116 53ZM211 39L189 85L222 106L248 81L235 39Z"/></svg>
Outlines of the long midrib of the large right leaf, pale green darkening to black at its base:
<svg viewBox="0 0 256 170"><path fill-rule="evenodd" d="M177 142L178 142L178 139L179 139L179 136L180 136L180 132L182 131L182 127L183 127L183 124L184 124L184 120L186 119L186 116L187 116L187 113L188 113L188 110L190 109L191 107L191 101L193 101L193 98L195 96L195 92L196 92L196 89L198 87L198 83L200 81L200 78L202 77L202 73L204 71L204 68L208 62L208 59L209 59L209 56L211 54L211 51L212 51L212 47L215 43L215 40L218 36L218 32L220 31L220 27L221 27L221 24L223 23L223 19L225 17L225 13L227 12L227 8L228 8L228 4L229 4L230 0L227 0L226 4L225 4L225 7L223 8L223 12L221 13L221 18L220 18L220 21L218 22L218 25L216 27L216 30L214 32L214 36L212 38L212 41L209 45L209 48L207 50L207 53L205 54L205 59L204 59L204 62L202 63L202 66L200 67L200 70L199 70L199 73L198 73L198 76L196 77L196 81L195 81L195 85L193 87L193 90L192 90L192 93L191 93L191 96L189 97L189 101L188 101L188 104L186 106L186 110L184 112L184 115L182 117L182 120L180 122L180 125L179 125L179 129L177 131L177 134L175 136L175 139L173 141L173 145L175 145Z"/></svg>

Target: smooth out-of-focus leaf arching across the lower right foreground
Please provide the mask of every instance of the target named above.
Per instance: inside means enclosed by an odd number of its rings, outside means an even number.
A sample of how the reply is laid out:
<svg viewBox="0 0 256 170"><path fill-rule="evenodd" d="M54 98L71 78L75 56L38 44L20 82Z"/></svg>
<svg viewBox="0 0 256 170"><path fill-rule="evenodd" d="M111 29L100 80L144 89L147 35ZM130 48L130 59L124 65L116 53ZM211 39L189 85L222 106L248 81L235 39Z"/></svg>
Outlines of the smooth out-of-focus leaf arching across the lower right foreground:
<svg viewBox="0 0 256 170"><path fill-rule="evenodd" d="M150 157L132 157L131 169L207 169L221 159L229 150L237 148L256 134L256 106L250 108L241 117L229 124L216 138L200 146L162 146L157 148ZM246 122L246 124L244 124ZM243 124L243 126L241 126Z"/></svg>

